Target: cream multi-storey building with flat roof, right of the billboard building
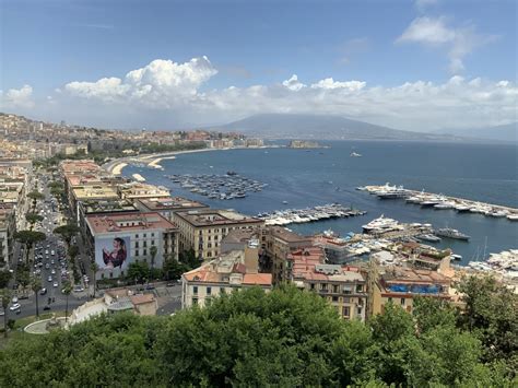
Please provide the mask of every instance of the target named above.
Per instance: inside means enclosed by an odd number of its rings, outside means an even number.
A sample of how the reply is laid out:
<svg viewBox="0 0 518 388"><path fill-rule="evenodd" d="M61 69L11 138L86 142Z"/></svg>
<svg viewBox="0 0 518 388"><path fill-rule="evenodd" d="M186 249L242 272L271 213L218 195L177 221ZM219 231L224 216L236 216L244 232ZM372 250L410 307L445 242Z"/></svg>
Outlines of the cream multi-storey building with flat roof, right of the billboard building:
<svg viewBox="0 0 518 388"><path fill-rule="evenodd" d="M176 212L173 221L179 228L180 251L193 249L197 258L212 260L220 256L221 240L235 230L252 230L263 221L229 210L202 209Z"/></svg>

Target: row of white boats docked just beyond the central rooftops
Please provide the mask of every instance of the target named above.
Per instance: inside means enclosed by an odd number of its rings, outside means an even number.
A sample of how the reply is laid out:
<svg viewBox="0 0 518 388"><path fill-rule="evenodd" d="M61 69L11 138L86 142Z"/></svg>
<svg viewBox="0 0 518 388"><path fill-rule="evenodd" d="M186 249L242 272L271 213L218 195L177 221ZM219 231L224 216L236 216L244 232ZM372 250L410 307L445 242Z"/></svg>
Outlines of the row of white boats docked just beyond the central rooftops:
<svg viewBox="0 0 518 388"><path fill-rule="evenodd" d="M364 215L365 213L364 211L345 208L340 203L329 203L314 208L286 209L271 213L259 213L257 217L264 220L266 225L290 225Z"/></svg>

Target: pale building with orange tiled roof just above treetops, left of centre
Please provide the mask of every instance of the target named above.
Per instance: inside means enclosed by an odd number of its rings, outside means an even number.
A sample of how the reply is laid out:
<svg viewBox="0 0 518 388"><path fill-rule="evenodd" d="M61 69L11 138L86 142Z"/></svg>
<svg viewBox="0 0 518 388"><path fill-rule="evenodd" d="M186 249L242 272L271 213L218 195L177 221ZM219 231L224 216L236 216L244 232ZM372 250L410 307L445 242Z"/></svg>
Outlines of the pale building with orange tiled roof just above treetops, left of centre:
<svg viewBox="0 0 518 388"><path fill-rule="evenodd" d="M271 273L258 272L259 242L231 250L181 277L181 307L205 306L213 297L251 286L272 287Z"/></svg>

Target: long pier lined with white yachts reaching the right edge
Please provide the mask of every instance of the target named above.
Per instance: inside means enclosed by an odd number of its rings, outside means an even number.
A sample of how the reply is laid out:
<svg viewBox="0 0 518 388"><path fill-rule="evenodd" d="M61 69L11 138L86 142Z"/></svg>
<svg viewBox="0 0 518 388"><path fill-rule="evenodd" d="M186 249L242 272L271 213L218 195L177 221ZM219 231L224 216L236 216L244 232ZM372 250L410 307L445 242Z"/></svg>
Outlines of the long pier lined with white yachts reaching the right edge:
<svg viewBox="0 0 518 388"><path fill-rule="evenodd" d="M409 190L402 186L361 186L356 188L361 191L367 191L381 200L399 199L409 204L421 205L434 210L454 210L458 213L478 213L492 217L506 217L509 221L518 221L518 209L491 204L480 201L468 200L463 198L449 197L443 193L432 193L423 191Z"/></svg>

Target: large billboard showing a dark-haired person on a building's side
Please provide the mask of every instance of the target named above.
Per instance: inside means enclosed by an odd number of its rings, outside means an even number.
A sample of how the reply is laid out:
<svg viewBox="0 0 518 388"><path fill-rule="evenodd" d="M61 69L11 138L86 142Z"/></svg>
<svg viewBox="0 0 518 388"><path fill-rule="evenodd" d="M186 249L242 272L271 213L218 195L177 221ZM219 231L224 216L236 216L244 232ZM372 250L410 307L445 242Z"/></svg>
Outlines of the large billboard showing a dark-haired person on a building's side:
<svg viewBox="0 0 518 388"><path fill-rule="evenodd" d="M128 268L131 240L127 236L95 238L95 262L99 272L115 271L117 274Z"/></svg>

